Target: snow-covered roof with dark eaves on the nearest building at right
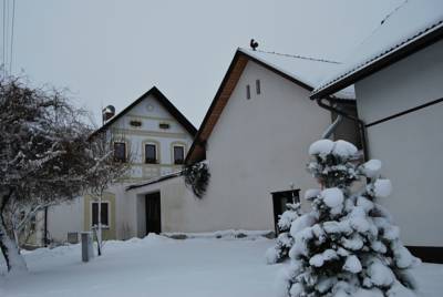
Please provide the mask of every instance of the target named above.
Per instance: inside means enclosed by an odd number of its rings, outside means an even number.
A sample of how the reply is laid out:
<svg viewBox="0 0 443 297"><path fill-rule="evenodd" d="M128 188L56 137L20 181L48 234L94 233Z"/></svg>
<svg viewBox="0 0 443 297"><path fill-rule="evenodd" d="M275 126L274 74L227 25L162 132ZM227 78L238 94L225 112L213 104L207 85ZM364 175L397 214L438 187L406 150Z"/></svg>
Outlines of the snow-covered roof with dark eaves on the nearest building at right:
<svg viewBox="0 0 443 297"><path fill-rule="evenodd" d="M442 0L406 0L388 14L381 24L313 90L311 98L337 92L359 80L358 74L408 45L443 28ZM353 78L352 78L353 76ZM363 75L362 75L363 76Z"/></svg>

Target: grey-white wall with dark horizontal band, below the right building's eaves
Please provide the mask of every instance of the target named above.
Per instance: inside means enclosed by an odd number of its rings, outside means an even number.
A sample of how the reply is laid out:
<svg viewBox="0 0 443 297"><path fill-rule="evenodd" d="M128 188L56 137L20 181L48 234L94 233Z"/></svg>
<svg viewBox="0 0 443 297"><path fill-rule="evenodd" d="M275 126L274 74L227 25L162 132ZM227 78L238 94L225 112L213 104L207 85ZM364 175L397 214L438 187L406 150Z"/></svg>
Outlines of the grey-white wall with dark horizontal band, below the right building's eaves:
<svg viewBox="0 0 443 297"><path fill-rule="evenodd" d="M367 123L443 98L443 41L356 84ZM382 201L411 246L443 246L443 103L368 127L370 156L393 183Z"/></svg>

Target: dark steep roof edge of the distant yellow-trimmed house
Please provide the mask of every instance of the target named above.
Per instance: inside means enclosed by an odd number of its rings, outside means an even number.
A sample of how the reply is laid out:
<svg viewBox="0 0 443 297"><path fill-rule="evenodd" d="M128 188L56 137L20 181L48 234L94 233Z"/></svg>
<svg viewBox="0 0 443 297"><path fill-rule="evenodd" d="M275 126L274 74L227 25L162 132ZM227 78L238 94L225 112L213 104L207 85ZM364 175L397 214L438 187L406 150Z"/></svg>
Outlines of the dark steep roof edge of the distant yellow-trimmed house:
<svg viewBox="0 0 443 297"><path fill-rule="evenodd" d="M181 123L186 129L187 132L189 132L189 134L192 136L195 136L195 134L197 133L197 129L186 119L185 115L183 115L183 113L181 113L174 106L173 103L171 103L171 101L156 86L151 88L151 90L148 90L146 93L141 95L137 100L135 100L133 103L127 105L123 111L121 111L120 113L117 113L116 115L111 117L111 120L107 121L104 125L102 125L100 129L95 130L94 133L92 133L92 135L95 135L100 132L105 131L113 123L115 123L115 121L117 121L120 117L125 115L132 107L137 105L140 102L142 102L148 95L153 95L154 98L156 98L158 100L158 102L162 104L162 106L165 107L175 117L175 120L177 120L177 122Z"/></svg>

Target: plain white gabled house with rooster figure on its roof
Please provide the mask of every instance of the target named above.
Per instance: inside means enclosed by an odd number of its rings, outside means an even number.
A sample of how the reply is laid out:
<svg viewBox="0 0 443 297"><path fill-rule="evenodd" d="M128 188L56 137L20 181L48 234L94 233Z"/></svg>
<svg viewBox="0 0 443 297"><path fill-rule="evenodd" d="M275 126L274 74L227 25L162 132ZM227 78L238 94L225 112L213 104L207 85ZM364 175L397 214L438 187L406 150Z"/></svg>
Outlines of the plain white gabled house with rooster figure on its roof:
<svg viewBox="0 0 443 297"><path fill-rule="evenodd" d="M238 49L186 156L206 162L209 185L194 196L179 175L134 184L126 192L151 209L159 199L161 232L274 231L286 203L317 186L306 172L308 147L334 114L318 109L309 94L340 64L306 57ZM356 112L353 89L331 104ZM352 121L334 137L359 145ZM134 217L137 235L150 232L151 211Z"/></svg>

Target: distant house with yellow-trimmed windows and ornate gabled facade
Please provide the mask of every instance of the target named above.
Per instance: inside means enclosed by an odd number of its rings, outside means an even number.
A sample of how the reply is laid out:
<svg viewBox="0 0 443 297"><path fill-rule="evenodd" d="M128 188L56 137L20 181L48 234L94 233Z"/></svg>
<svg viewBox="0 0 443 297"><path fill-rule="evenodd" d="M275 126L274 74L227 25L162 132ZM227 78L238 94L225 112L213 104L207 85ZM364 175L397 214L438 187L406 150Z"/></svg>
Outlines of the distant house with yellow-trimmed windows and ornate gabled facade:
<svg viewBox="0 0 443 297"><path fill-rule="evenodd" d="M126 239L136 235L132 218L141 209L128 199L125 187L179 172L196 129L155 86L115 115L112 106L106 107L104 116L110 119L105 119L94 134L111 134L114 157L131 162L131 167L121 183L104 193L103 236L105 239ZM91 231L96 224L97 202L85 195L73 203L51 207L44 222L43 234L49 239L66 242L69 233L75 237L76 233Z"/></svg>

